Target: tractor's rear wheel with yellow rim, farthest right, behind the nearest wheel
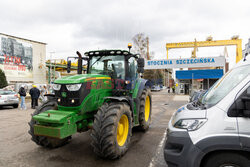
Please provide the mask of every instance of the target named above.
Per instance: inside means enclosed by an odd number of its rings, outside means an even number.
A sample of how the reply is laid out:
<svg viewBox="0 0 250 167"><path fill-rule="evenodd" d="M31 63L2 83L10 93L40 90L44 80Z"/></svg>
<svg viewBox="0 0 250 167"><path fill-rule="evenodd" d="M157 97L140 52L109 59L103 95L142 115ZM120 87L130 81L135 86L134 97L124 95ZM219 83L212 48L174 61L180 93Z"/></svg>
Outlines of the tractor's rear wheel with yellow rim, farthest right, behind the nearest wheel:
<svg viewBox="0 0 250 167"><path fill-rule="evenodd" d="M148 130L151 124L152 96L150 89L144 89L140 97L139 122L143 131Z"/></svg>

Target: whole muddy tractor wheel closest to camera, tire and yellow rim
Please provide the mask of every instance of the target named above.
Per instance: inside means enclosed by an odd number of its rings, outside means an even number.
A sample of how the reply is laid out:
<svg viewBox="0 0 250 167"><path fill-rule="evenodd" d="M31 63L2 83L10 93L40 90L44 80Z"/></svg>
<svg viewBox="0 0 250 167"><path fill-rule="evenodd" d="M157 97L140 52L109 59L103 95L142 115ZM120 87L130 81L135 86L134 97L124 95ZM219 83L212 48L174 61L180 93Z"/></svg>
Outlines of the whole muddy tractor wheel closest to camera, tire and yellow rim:
<svg viewBox="0 0 250 167"><path fill-rule="evenodd" d="M91 132L94 152L116 159L126 153L132 136L132 116L126 103L104 103L95 115Z"/></svg>

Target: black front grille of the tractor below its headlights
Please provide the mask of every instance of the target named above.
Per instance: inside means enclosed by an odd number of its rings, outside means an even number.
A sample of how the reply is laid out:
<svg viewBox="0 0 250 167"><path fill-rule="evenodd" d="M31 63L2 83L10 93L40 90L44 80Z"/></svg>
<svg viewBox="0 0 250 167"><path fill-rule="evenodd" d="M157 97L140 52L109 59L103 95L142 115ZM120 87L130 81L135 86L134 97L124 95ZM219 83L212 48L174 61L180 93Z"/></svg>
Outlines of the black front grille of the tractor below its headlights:
<svg viewBox="0 0 250 167"><path fill-rule="evenodd" d="M86 89L87 83L83 83L78 91L68 91L66 85L62 84L59 91L55 91L55 97L58 105L65 107L80 106L84 98L90 93L90 89Z"/></svg>

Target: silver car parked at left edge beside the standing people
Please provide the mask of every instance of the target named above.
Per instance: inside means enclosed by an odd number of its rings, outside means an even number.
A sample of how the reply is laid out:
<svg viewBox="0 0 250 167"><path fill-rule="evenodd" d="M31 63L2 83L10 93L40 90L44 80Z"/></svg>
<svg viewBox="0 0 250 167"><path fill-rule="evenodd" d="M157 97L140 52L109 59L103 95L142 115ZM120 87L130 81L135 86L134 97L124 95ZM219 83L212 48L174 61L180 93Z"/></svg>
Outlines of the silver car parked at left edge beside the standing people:
<svg viewBox="0 0 250 167"><path fill-rule="evenodd" d="M18 104L19 98L16 92L0 89L0 107L13 106L14 108L17 108Z"/></svg>

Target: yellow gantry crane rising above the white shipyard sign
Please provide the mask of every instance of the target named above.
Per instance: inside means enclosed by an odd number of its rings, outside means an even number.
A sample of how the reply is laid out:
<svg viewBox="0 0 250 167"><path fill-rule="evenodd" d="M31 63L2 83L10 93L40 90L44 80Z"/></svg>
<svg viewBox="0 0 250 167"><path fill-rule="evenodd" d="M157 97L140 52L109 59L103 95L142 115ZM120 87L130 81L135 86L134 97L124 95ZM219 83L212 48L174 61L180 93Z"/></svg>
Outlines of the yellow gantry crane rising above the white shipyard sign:
<svg viewBox="0 0 250 167"><path fill-rule="evenodd" d="M192 52L192 58L196 57L196 51L198 47L211 47L211 46L236 46L236 63L242 59L242 39L238 39L239 36L233 36L231 40L216 40L213 41L212 37L208 37L206 41L194 42L179 42L179 43L167 43L167 59L168 50L176 48L194 48Z"/></svg>

